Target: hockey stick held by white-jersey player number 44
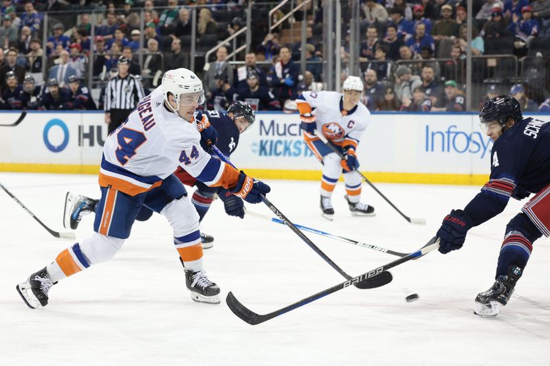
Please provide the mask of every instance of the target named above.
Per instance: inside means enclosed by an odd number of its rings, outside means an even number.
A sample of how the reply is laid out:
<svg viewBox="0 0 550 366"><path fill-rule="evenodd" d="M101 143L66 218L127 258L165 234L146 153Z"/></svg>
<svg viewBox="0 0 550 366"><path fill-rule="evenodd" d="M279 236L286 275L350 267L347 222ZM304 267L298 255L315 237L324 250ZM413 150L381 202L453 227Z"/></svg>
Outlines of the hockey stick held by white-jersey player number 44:
<svg viewBox="0 0 550 366"><path fill-rule="evenodd" d="M212 148L212 150L214 150L214 152L216 153L216 155L218 155L218 157L224 161L225 163L228 163L229 165L231 165L233 168L235 168L235 165L233 165L231 163L231 161L229 161L228 157L226 157L225 155L223 155L223 152L221 152L219 150L219 148L217 148L217 146L215 146L214 144L210 145L210 148ZM236 169L236 168L235 168ZM307 238L307 236L305 236L305 234L300 231L300 229L298 229L292 222L290 222L290 220L285 216L283 215L283 213L281 211L279 211L277 209L277 207L275 207L273 205L273 203L271 203L267 198L265 198L265 196L261 196L262 198L262 201L263 203L265 203L265 205L267 207L270 207L270 209L272 210L272 212L278 216L278 218L281 218L281 220L283 220L283 222L285 222L285 224L292 230L294 231L294 233L296 233L296 235L298 235L300 237L300 239L302 239L307 245L309 245L309 247L311 249L313 249L318 255L320 255L320 257L325 260L325 262L327 262L328 264L330 264L330 266L332 268L334 268L338 273L340 273L340 275L342 275L345 279L352 279L353 277L351 277L350 275L348 275L347 273L344 272L344 270L342 268L340 268L336 263L334 263L325 253L323 253L321 251L321 249L319 249L316 244L314 244L313 242L311 242L311 240L309 240L309 238ZM360 282L354 282L353 283L353 286L357 287L357 288L375 288L375 287L380 287L380 286L384 286L386 284L389 284L391 282L391 280L393 279L391 273L389 272L386 272L384 273L382 276L380 276L379 278L377 279L369 279L369 278L365 278L364 281L360 281Z"/></svg>

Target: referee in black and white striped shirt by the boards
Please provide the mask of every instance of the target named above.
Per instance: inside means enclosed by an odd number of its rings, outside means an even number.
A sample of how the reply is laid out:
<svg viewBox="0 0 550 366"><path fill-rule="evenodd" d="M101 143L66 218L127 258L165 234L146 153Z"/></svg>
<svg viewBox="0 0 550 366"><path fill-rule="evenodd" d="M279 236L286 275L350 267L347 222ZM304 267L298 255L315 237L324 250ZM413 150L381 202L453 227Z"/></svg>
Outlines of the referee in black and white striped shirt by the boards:
<svg viewBox="0 0 550 366"><path fill-rule="evenodd" d="M118 58L118 75L109 81L105 89L105 123L111 133L128 118L131 111L144 98L142 83L135 75L129 74L130 60Z"/></svg>

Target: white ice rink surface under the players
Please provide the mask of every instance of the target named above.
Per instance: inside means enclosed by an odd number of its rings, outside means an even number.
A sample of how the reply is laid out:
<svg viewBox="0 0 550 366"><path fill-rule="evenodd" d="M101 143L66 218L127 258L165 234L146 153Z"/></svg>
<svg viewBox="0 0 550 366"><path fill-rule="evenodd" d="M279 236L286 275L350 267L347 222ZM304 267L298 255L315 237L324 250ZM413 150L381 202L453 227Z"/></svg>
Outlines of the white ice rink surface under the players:
<svg viewBox="0 0 550 366"><path fill-rule="evenodd" d="M96 176L0 173L8 187L47 225L63 230L65 192L97 197ZM425 244L452 208L479 187L382 184L399 209L426 218L410 225L367 185L363 201L374 218L349 214L343 184L333 195L336 217L320 217L318 183L268 181L270 201L291 220L410 252ZM260 325L248 325L225 305L193 302L162 216L136 222L110 262L63 280L50 304L31 310L15 286L72 242L55 240L0 192L0 365L548 365L550 248L534 244L525 274L496 319L481 319L473 299L494 281L505 225L521 207L472 229L465 246L429 253L393 269L382 288L350 287ZM270 214L262 204L249 210ZM91 235L92 216L76 231ZM342 282L342 277L283 225L226 216L214 201L203 230L215 237L205 269L223 299L231 290L251 310L272 312ZM351 275L397 257L307 234ZM419 300L407 303L407 291Z"/></svg>

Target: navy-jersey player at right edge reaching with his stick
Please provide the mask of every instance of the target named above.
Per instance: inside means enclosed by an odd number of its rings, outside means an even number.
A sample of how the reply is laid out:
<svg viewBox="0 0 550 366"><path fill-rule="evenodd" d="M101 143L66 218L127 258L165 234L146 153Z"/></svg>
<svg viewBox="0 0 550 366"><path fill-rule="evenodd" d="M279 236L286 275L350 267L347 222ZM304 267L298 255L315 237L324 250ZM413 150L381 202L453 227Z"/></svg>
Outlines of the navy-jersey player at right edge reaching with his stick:
<svg viewBox="0 0 550 366"><path fill-rule="evenodd" d="M474 312L496 317L514 292L533 250L533 242L550 236L550 124L523 118L519 102L499 95L485 102L481 127L494 141L489 181L464 209L453 209L437 231L443 254L461 249L467 231L500 214L509 198L535 194L506 227L493 286L479 293Z"/></svg>

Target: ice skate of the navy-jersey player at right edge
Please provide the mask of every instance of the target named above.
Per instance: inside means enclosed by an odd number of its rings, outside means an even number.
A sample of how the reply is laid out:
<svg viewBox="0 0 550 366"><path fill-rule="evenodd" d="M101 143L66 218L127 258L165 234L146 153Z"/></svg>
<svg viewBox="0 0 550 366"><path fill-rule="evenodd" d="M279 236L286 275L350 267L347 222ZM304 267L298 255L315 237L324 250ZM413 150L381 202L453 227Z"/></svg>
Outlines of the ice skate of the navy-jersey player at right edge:
<svg viewBox="0 0 550 366"><path fill-rule="evenodd" d="M522 269L518 266L510 266L508 275L500 275L489 290L478 293L474 306L474 314L480 317L494 318L498 315L501 306L508 304L510 296L514 293L516 282L522 275Z"/></svg>

